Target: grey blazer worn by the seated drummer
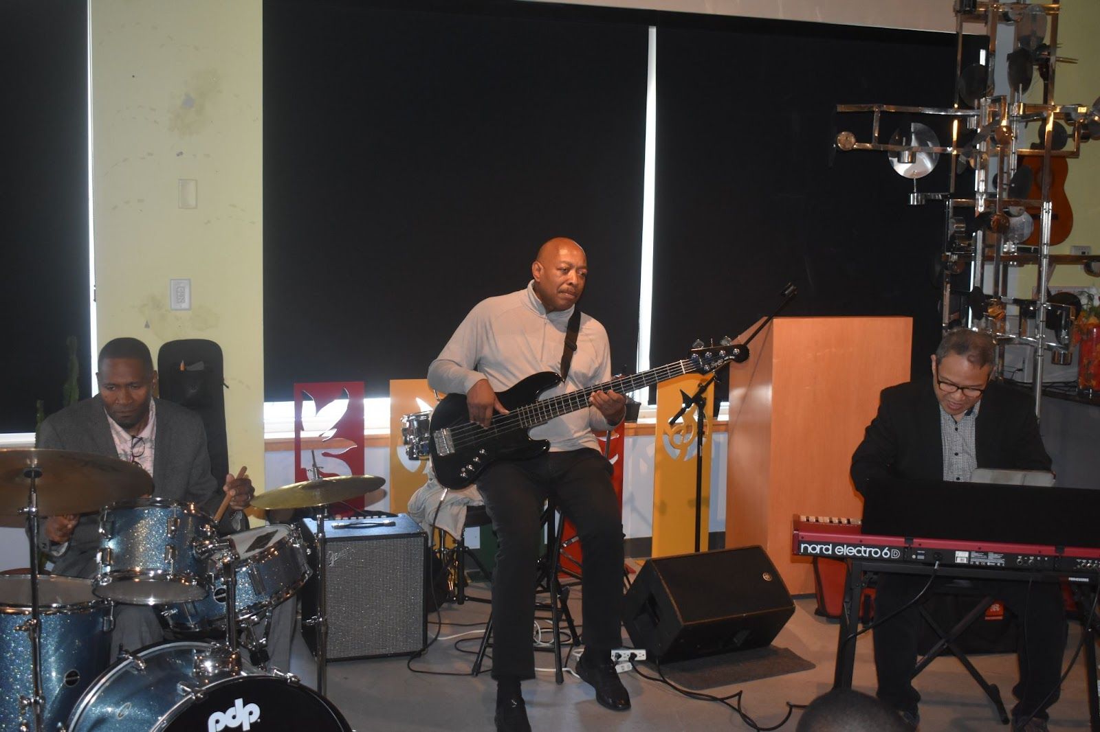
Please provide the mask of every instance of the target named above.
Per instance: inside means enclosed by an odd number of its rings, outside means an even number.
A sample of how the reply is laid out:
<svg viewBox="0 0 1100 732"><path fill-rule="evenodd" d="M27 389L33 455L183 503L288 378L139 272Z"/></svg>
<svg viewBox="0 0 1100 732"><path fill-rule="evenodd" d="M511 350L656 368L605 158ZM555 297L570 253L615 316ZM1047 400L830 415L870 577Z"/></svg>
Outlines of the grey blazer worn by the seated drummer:
<svg viewBox="0 0 1100 732"><path fill-rule="evenodd" d="M118 457L114 440L99 396L51 414L38 428L37 446L73 450ZM218 511L224 493L210 475L202 419L185 407L156 400L156 443L153 456L153 496L190 501L210 515ZM218 529L233 531L235 511L227 511ZM99 514L86 513L73 532L65 553L54 564L54 574L91 577L99 548Z"/></svg>

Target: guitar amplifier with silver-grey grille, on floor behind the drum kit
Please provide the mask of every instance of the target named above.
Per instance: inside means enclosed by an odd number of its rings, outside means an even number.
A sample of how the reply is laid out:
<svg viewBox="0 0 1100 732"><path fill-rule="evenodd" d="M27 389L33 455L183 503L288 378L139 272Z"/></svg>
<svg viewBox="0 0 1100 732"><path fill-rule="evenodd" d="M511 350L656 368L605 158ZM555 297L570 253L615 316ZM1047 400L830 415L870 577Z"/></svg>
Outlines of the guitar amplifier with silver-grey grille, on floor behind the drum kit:
<svg viewBox="0 0 1100 732"><path fill-rule="evenodd" d="M301 523L315 545L317 522ZM425 647L428 535L419 524L405 513L326 521L324 545L328 661L411 655ZM302 621L317 613L316 557L312 552L314 576L301 591ZM317 630L302 622L302 635L316 655Z"/></svg>

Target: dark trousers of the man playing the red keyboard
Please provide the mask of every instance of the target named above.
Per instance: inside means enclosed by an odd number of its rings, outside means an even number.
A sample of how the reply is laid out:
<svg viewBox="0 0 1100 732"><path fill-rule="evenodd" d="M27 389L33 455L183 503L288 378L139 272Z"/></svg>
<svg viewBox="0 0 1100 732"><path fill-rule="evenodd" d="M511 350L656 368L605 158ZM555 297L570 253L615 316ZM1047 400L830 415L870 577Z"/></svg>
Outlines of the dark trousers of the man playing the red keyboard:
<svg viewBox="0 0 1100 732"><path fill-rule="evenodd" d="M926 576L881 573L875 590L875 619L886 618L910 602L928 581ZM950 581L938 577L925 597ZM1062 657L1066 650L1066 610L1057 583L972 580L975 589L1000 600L1020 622L1020 683L1012 689L1019 703L1013 717L1047 719L1046 709L1058 699ZM875 629L878 697L895 708L916 713L921 695L911 684L916 666L920 606L915 605Z"/></svg>

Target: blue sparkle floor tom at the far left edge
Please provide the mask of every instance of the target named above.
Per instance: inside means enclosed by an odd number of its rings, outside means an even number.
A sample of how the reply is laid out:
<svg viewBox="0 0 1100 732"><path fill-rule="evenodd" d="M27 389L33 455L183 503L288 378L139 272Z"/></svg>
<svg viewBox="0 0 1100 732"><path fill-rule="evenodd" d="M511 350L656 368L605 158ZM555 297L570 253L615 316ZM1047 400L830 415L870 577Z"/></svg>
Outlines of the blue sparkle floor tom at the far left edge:
<svg viewBox="0 0 1100 732"><path fill-rule="evenodd" d="M20 626L31 619L30 575L0 576L0 730L34 728L20 697L34 692L31 639ZM56 730L99 674L110 665L110 603L77 577L38 577L42 618L42 711L44 730Z"/></svg>

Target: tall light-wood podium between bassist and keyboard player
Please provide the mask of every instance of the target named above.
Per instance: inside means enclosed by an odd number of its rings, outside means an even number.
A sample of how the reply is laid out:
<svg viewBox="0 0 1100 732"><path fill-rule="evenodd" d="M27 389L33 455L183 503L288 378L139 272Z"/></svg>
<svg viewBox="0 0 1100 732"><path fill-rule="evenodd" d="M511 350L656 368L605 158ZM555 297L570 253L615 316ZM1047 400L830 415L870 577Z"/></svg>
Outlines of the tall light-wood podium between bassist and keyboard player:
<svg viewBox="0 0 1100 732"><path fill-rule="evenodd" d="M792 515L862 515L851 454L879 392L910 378L912 331L910 318L777 318L729 366L726 546L763 546L791 594L814 589Z"/></svg>

